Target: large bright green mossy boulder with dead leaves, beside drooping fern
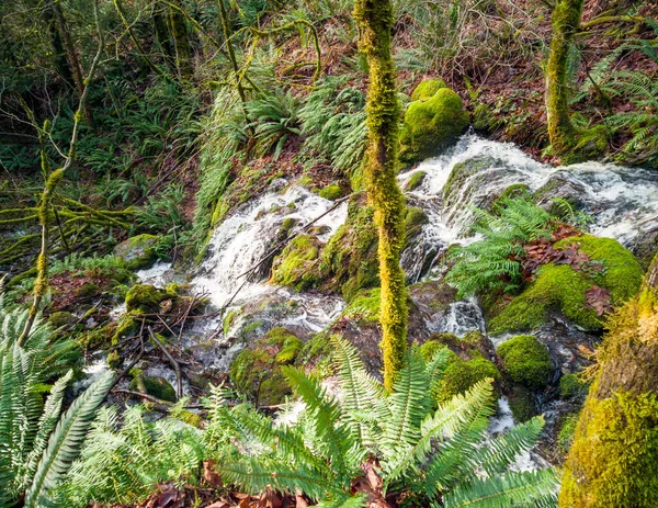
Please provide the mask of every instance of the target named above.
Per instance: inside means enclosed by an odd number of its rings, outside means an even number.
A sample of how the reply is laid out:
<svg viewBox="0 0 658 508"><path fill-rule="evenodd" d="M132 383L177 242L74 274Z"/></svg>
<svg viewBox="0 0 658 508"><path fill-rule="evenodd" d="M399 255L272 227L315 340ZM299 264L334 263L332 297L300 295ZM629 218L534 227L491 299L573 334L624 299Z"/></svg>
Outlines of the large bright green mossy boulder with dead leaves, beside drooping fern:
<svg viewBox="0 0 658 508"><path fill-rule="evenodd" d="M594 285L602 287L610 292L610 303L619 305L639 289L643 269L616 240L583 235L560 240L554 247L577 247L590 262L577 269L567 264L542 267L534 282L491 318L491 332L531 330L552 312L585 329L601 329L603 316L590 305L588 292Z"/></svg>

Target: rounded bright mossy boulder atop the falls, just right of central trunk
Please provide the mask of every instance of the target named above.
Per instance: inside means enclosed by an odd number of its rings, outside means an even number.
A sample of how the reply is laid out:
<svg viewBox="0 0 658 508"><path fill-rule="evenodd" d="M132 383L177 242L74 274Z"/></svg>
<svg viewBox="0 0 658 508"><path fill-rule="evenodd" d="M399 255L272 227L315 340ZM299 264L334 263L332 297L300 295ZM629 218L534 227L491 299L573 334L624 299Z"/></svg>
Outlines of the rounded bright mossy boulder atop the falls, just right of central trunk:
<svg viewBox="0 0 658 508"><path fill-rule="evenodd" d="M400 131L400 160L417 162L436 155L464 133L468 122L462 99L450 88L440 88L429 99L411 102Z"/></svg>

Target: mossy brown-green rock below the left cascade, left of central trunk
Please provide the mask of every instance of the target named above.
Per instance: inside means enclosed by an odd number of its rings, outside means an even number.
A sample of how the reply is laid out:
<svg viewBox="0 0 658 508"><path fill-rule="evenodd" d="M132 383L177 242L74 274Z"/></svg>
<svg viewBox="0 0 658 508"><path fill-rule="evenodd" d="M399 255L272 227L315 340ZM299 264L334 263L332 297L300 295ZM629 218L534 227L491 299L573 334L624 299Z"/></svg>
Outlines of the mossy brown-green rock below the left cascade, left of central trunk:
<svg viewBox="0 0 658 508"><path fill-rule="evenodd" d="M286 328L273 328L241 351L230 365L236 388L260 405L280 404L291 387L281 365L291 364L303 342Z"/></svg>

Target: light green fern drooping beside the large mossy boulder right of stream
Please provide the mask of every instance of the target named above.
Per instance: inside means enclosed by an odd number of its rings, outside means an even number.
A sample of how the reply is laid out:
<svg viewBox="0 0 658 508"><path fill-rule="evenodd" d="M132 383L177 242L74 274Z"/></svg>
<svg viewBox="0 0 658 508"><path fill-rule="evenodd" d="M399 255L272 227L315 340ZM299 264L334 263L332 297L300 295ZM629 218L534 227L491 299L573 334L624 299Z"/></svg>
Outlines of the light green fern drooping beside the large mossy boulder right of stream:
<svg viewBox="0 0 658 508"><path fill-rule="evenodd" d="M520 289L523 244L549 238L554 218L525 195L501 199L492 212L475 212L473 230L483 239L452 250L456 262L446 280L457 286L460 297L478 291Z"/></svg>

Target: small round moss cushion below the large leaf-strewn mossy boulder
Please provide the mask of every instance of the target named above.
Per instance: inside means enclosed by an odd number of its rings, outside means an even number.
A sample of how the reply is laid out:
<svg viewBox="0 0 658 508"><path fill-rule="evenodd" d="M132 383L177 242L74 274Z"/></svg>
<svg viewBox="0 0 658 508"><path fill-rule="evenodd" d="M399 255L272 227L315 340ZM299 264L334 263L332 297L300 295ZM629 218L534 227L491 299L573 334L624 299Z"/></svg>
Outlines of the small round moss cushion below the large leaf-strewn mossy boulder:
<svg viewBox="0 0 658 508"><path fill-rule="evenodd" d="M531 390L544 388L553 368L546 347L532 335L521 335L498 348L504 371L515 383Z"/></svg>

